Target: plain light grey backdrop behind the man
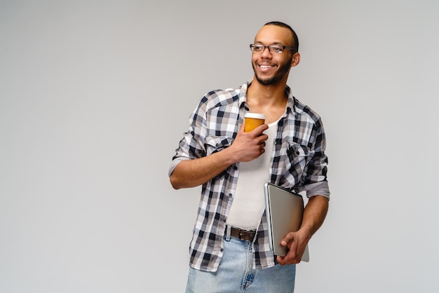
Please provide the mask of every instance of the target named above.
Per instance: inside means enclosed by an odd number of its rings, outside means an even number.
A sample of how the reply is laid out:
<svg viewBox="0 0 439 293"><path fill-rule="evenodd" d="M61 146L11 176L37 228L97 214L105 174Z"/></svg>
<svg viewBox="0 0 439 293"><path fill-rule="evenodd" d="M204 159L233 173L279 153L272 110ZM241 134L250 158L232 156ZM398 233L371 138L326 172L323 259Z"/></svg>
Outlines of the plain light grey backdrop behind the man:
<svg viewBox="0 0 439 293"><path fill-rule="evenodd" d="M438 292L437 1L0 1L0 292L183 292L199 189L168 166L271 20L327 132L296 292Z"/></svg>

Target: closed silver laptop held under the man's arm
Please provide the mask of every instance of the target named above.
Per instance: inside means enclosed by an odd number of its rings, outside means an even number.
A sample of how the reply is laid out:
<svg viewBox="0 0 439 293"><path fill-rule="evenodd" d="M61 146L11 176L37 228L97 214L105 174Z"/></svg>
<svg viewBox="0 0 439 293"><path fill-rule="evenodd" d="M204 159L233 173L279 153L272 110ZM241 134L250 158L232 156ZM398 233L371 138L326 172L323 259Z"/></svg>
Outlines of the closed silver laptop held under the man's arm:
<svg viewBox="0 0 439 293"><path fill-rule="evenodd" d="M281 245L281 240L288 232L299 230L304 214L304 200L298 193L269 182L264 184L264 194L270 249L273 254L285 257L287 247ZM308 245L302 261L309 261Z"/></svg>

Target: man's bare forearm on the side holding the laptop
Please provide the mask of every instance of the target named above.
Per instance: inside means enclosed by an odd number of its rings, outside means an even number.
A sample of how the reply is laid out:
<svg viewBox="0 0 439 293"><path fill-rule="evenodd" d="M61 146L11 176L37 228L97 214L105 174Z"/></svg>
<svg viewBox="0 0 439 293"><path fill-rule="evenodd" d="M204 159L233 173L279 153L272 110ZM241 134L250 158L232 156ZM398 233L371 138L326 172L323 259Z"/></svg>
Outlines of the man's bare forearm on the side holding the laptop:
<svg viewBox="0 0 439 293"><path fill-rule="evenodd" d="M306 204L300 230L306 234L306 238L311 239L314 233L322 226L325 221L329 200L324 196L313 196Z"/></svg>

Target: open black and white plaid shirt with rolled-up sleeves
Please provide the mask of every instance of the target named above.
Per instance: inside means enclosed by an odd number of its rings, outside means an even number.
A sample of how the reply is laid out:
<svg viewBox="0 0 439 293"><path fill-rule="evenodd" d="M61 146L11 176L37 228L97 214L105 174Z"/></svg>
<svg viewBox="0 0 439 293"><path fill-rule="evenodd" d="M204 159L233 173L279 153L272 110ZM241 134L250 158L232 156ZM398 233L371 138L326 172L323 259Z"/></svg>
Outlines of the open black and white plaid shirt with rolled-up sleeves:
<svg viewBox="0 0 439 293"><path fill-rule="evenodd" d="M243 86L207 93L191 115L189 131L180 141L169 175L183 160L209 156L231 145L248 106L247 88ZM306 196L326 196L330 192L326 180L325 132L320 117L292 96L287 86L288 104L278 122L267 181ZM190 243L190 265L203 271L217 271L223 254L223 238L227 215L234 198L239 163L205 182L201 189L198 217ZM261 187L262 188L262 187ZM269 248L265 213L253 242L253 267L274 266Z"/></svg>

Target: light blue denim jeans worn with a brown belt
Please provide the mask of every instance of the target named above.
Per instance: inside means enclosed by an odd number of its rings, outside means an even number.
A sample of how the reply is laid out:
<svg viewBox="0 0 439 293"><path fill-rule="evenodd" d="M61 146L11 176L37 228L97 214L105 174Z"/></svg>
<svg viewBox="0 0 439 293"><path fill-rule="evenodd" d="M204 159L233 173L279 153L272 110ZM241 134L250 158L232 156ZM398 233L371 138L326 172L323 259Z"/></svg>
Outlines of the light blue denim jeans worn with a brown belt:
<svg viewBox="0 0 439 293"><path fill-rule="evenodd" d="M231 237L215 273L189 268L187 293L294 292L296 265L252 268L252 243Z"/></svg>

